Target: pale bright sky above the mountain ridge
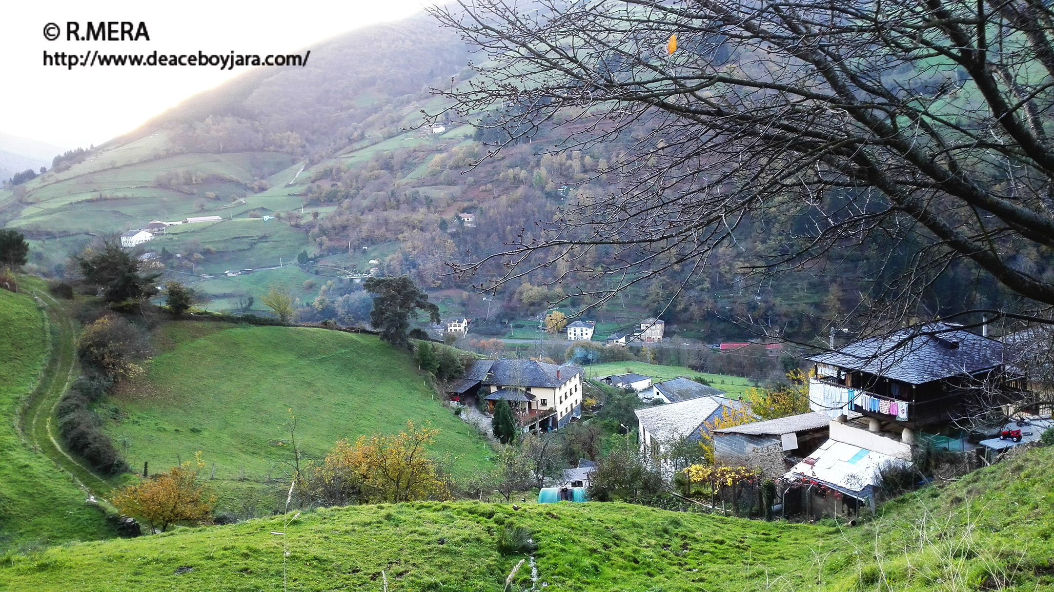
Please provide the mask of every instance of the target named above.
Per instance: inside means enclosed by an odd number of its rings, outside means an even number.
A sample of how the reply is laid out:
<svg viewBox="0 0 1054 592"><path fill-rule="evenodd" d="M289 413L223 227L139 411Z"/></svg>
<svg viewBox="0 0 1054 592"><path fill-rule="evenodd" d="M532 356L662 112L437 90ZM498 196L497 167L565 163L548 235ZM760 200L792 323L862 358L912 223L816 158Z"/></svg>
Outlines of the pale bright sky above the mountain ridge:
<svg viewBox="0 0 1054 592"><path fill-rule="evenodd" d="M43 65L43 52L85 54L286 54L374 22L397 20L427 0L8 1L0 8L0 132L63 147L100 144L248 68ZM430 3L430 2L427 2ZM66 41L66 22L145 22L150 41ZM44 38L47 23L61 27Z"/></svg>

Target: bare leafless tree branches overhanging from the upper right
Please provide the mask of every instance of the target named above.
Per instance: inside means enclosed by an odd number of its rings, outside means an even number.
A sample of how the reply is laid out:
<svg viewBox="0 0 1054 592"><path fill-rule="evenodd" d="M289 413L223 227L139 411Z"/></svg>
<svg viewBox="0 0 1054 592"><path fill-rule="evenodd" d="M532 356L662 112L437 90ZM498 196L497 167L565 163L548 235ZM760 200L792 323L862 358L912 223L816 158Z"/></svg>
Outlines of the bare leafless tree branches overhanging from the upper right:
<svg viewBox="0 0 1054 592"><path fill-rule="evenodd" d="M918 296L968 265L1009 295L997 315L1050 318L1054 15L1039 0L458 0L431 13L482 53L476 77L437 92L501 132L488 156L552 127L565 132L555 150L626 146L597 173L614 179L606 191L583 189L505 251L455 264L483 288L553 268L553 281L611 279L580 293L597 303L661 276L676 293L760 223L768 248L740 261L754 277L823 273L870 248L887 257L870 278L875 316L923 318Z"/></svg>

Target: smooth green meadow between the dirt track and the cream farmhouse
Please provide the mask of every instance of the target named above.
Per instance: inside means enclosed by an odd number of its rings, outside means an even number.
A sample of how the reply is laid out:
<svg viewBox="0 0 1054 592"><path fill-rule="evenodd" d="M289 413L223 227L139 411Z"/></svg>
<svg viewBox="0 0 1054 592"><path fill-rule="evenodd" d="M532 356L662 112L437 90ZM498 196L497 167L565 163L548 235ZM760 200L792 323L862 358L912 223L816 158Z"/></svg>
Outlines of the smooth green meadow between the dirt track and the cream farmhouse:
<svg viewBox="0 0 1054 592"><path fill-rule="evenodd" d="M413 420L441 430L433 452L453 458L455 471L489 466L487 447L436 400L409 356L374 336L182 321L165 325L161 341L147 373L101 404L106 432L140 470L200 451L221 494L246 487L236 480L242 471L250 481L281 478L294 460L293 415L309 458L340 438L395 433Z"/></svg>

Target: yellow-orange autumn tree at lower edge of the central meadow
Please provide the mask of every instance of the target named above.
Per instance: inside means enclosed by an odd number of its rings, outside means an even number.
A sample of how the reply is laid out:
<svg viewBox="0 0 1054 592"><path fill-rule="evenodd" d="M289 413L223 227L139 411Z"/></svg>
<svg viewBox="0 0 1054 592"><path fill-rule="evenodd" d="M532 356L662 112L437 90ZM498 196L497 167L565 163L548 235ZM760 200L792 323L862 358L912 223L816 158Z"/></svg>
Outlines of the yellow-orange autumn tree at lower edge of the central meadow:
<svg viewBox="0 0 1054 592"><path fill-rule="evenodd" d="M438 433L428 422L407 421L395 435L340 440L321 465L305 471L301 495L328 506L449 498L450 487L426 450Z"/></svg>

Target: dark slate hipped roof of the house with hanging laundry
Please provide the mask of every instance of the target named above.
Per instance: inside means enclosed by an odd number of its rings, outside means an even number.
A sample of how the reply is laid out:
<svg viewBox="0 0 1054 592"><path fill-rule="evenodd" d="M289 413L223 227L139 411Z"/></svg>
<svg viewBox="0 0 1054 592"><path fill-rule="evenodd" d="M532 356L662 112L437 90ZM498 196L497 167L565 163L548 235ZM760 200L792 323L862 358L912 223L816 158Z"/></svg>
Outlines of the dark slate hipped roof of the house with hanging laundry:
<svg viewBox="0 0 1054 592"><path fill-rule="evenodd" d="M995 339L956 324L935 322L856 341L807 359L922 384L989 370L1006 363L1007 357L1007 347Z"/></svg>

